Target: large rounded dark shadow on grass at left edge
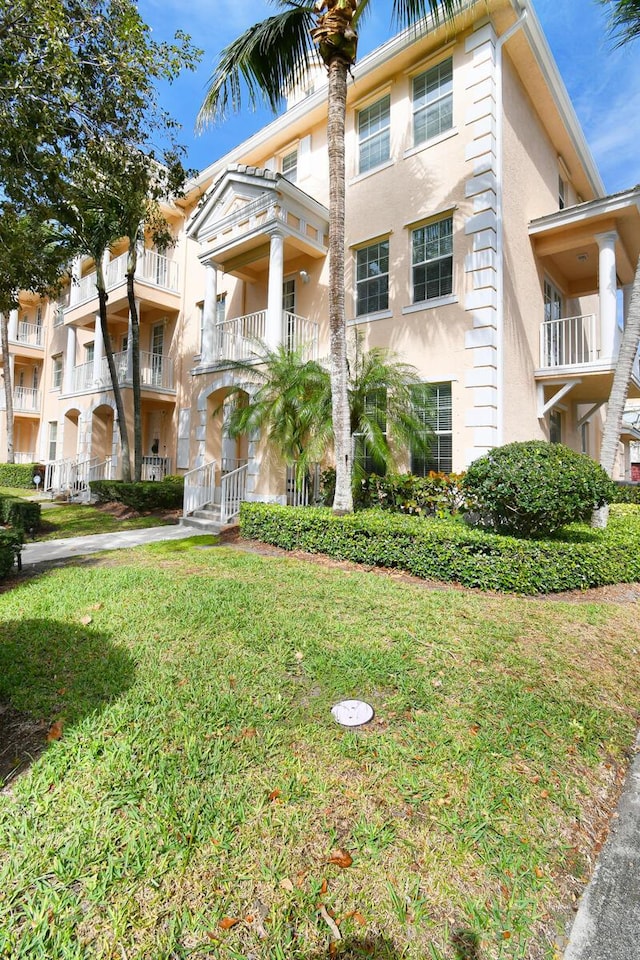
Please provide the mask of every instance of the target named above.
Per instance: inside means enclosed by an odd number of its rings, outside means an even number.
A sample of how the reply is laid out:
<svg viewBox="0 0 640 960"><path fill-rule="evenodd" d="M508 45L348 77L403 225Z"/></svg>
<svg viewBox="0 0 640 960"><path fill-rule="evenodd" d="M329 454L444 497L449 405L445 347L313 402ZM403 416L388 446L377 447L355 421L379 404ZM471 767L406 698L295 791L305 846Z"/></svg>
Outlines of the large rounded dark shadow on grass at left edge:
<svg viewBox="0 0 640 960"><path fill-rule="evenodd" d="M50 740L119 697L134 670L129 654L90 625L0 623L0 787Z"/></svg>

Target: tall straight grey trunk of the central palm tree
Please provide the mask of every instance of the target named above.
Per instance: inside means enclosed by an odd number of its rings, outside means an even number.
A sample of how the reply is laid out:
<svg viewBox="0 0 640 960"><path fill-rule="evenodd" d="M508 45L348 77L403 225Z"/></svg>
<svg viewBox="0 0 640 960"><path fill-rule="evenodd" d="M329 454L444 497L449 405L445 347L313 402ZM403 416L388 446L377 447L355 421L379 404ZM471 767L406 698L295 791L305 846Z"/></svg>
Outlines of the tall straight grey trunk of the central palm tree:
<svg viewBox="0 0 640 960"><path fill-rule="evenodd" d="M347 392L347 337L344 308L345 146L347 63L329 63L329 335L331 408L336 457L334 513L353 511L352 451Z"/></svg>

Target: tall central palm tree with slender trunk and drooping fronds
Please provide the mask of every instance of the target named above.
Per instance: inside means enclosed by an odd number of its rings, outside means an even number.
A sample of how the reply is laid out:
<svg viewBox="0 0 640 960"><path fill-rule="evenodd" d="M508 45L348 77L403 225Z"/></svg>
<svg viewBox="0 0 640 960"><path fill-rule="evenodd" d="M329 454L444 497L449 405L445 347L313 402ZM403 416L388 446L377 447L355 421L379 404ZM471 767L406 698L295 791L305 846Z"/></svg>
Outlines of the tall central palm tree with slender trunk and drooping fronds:
<svg viewBox="0 0 640 960"><path fill-rule="evenodd" d="M347 77L356 62L358 24L371 0L273 0L279 12L255 24L222 51L200 109L198 123L220 119L229 105L250 103L278 109L283 92L297 86L320 60L328 73L329 152L329 332L331 402L335 435L336 493L333 509L353 510L352 450L347 397L345 322L345 119ZM463 0L395 0L397 26L431 14L451 18Z"/></svg>

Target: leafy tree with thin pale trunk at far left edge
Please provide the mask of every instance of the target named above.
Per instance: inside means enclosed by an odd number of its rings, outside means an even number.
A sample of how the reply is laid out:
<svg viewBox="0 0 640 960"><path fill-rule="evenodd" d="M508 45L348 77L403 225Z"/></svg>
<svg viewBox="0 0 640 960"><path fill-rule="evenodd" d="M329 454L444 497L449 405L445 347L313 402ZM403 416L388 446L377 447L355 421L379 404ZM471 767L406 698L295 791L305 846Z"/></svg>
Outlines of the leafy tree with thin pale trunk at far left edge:
<svg viewBox="0 0 640 960"><path fill-rule="evenodd" d="M7 463L15 462L9 313L17 309L21 290L43 297L54 295L68 256L68 238L50 222L21 214L8 201L0 204L0 344L4 358Z"/></svg>

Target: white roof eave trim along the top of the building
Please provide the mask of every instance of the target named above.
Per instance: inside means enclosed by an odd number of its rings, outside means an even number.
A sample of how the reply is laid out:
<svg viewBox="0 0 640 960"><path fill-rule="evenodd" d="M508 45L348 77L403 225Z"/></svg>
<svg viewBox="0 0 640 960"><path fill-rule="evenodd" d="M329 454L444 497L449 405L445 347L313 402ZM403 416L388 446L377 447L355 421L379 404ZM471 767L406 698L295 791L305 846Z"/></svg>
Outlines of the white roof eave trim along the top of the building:
<svg viewBox="0 0 640 960"><path fill-rule="evenodd" d="M595 160L587 143L584 131L580 125L577 114L567 92L567 88L562 79L558 66L555 62L551 48L544 35L544 31L538 20L531 0L508 0L517 15L526 10L527 16L523 23L523 31L527 37L531 50L536 58L542 75L551 91L555 104L558 108L563 123L567 129L569 137L573 143L576 153L584 165L585 173L591 188L596 196L605 196L606 189L603 180L598 172ZM480 0L465 0L458 16L472 9ZM433 16L429 16L422 21L420 25L408 27L396 34L390 40L387 40L381 46L377 47L366 57L356 63L353 70L354 80L364 78L373 70L378 69L388 60L406 49L416 39L424 37L440 24L436 23ZM277 135L282 129L286 129L291 123L304 117L306 113L322 107L326 103L327 88L323 84L320 89L314 91L310 96L300 100L294 106L285 110L280 116L276 117L271 123L261 127L247 140L243 140L232 148L224 156L215 160L212 164L200 171L188 184L187 191L202 189L212 177L216 177L228 165L234 162L239 154L249 153L266 143L271 137Z"/></svg>

